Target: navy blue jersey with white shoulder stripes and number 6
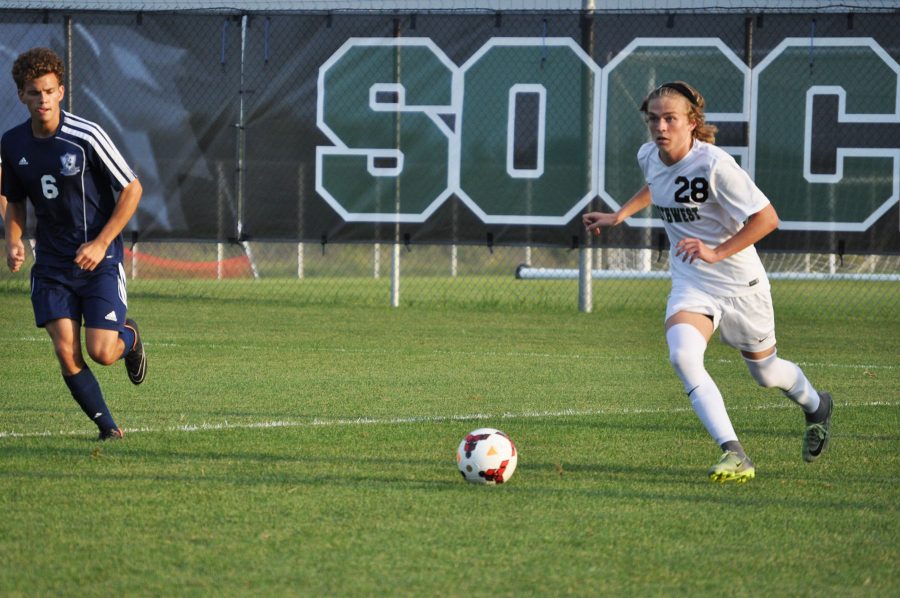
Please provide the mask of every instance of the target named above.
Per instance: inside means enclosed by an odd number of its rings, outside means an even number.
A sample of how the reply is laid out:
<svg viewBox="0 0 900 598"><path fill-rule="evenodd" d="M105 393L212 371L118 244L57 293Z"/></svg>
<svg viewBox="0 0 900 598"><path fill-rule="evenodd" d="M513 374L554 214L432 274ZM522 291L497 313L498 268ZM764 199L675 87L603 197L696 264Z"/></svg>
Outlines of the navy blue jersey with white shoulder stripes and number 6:
<svg viewBox="0 0 900 598"><path fill-rule="evenodd" d="M119 192L135 179L100 126L65 111L51 137L36 138L31 119L7 131L0 139L0 156L7 200L27 197L34 205L39 265L71 266L78 247L97 237ZM122 257L119 235L98 267L120 264Z"/></svg>

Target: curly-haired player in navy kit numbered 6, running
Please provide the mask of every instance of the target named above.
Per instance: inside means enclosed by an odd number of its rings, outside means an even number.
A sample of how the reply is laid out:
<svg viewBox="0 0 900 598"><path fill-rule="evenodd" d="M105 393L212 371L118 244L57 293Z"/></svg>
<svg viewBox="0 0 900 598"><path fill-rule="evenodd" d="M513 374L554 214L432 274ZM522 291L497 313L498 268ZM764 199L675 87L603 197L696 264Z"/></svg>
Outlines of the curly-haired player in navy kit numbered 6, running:
<svg viewBox="0 0 900 598"><path fill-rule="evenodd" d="M147 357L137 324L126 319L121 232L141 199L141 184L98 125L61 109L65 66L47 48L19 55L12 76L31 118L0 139L6 208L6 261L18 272L29 198L37 218L31 302L72 397L100 430L117 439L103 393L82 354L101 365L125 361L134 384Z"/></svg>

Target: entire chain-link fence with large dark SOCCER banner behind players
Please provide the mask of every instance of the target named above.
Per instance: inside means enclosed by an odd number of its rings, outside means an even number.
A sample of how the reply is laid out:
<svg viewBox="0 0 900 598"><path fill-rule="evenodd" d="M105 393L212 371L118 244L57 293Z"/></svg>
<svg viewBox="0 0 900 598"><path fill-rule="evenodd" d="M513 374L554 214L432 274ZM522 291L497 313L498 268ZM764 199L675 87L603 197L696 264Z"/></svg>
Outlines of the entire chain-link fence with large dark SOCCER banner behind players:
<svg viewBox="0 0 900 598"><path fill-rule="evenodd" d="M592 239L580 214L640 187L637 107L686 79L782 217L776 301L895 318L898 32L859 9L0 10L4 56L65 55L67 109L141 178L132 293L300 304L576 309L587 265L595 309L661 309L659 215Z"/></svg>

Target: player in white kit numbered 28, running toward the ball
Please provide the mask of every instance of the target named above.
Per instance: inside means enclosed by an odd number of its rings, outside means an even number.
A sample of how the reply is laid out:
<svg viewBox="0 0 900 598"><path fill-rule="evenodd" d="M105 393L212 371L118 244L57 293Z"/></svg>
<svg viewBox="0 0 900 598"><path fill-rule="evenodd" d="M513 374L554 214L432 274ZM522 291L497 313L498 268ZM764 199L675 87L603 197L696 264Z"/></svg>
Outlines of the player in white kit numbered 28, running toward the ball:
<svg viewBox="0 0 900 598"><path fill-rule="evenodd" d="M709 470L714 481L746 482L756 475L703 365L716 329L741 352L761 386L780 388L805 413L802 455L818 458L831 435L832 399L803 371L778 357L769 280L754 243L778 227L778 215L750 176L713 145L705 100L683 81L664 83L641 106L652 141L638 150L646 184L614 213L583 216L599 234L653 204L669 237L672 292L666 307L669 360L695 413L724 451Z"/></svg>

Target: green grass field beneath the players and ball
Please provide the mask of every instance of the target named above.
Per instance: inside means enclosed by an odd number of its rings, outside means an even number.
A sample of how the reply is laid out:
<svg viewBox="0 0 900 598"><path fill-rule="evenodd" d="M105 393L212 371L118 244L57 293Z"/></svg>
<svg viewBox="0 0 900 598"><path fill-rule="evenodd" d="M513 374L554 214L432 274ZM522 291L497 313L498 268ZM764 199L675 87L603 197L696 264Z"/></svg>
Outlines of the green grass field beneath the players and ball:
<svg viewBox="0 0 900 598"><path fill-rule="evenodd" d="M900 595L896 310L828 315L776 288L782 355L836 400L814 464L799 410L712 343L757 466L718 485L659 285L582 314L304 305L264 284L137 286L146 383L93 367L114 443L94 441L24 288L0 288L0 594ZM504 486L456 471L482 426L519 449Z"/></svg>

